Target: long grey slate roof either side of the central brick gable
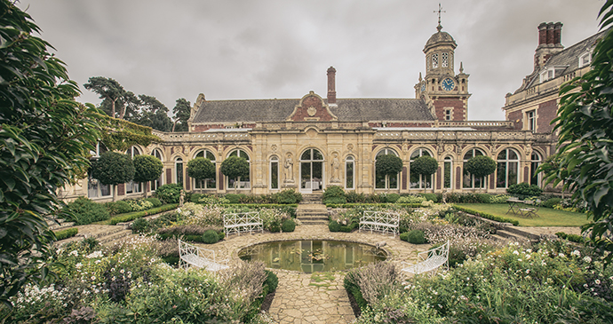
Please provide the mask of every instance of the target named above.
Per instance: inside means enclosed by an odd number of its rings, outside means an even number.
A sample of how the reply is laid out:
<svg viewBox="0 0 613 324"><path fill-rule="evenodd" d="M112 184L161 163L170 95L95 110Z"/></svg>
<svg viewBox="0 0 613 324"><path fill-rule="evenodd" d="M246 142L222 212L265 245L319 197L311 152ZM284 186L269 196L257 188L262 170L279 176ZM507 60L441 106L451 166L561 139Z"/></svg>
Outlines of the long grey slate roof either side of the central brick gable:
<svg viewBox="0 0 613 324"><path fill-rule="evenodd" d="M299 102L300 99L204 101L193 122L284 122ZM337 105L330 107L330 112L338 122L434 121L421 99L337 99Z"/></svg>

